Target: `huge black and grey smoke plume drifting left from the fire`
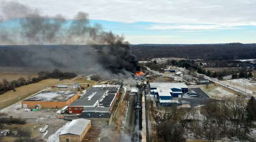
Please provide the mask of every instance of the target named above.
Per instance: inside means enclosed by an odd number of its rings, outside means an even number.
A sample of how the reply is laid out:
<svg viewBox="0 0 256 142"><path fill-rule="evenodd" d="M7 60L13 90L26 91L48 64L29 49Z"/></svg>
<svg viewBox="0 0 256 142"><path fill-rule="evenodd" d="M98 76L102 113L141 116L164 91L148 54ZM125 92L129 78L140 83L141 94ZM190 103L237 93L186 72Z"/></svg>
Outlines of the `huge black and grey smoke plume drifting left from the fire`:
<svg viewBox="0 0 256 142"><path fill-rule="evenodd" d="M17 61L18 56L26 66L64 66L84 70L90 68L95 72L107 70L117 74L138 71L140 69L138 62L131 54L129 43L124 41L124 37L103 31L100 24L91 26L88 17L87 13L82 12L72 20L66 20L62 15L48 17L38 10L17 2L2 2L0 44L31 45L26 46L25 53L8 57L6 62L12 64ZM11 28L3 24L9 20L18 24ZM65 46L90 44L90 46L58 50L33 48L36 45L57 44L65 44ZM8 51L7 48L1 52L12 54L11 52L17 53L17 50Z"/></svg>

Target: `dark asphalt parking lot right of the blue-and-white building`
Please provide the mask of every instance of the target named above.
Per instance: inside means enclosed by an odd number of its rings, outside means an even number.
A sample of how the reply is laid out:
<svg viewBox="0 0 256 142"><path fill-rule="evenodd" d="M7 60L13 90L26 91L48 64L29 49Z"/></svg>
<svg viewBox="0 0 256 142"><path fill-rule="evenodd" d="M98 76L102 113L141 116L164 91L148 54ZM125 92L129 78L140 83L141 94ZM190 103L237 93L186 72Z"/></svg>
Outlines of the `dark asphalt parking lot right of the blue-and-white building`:
<svg viewBox="0 0 256 142"><path fill-rule="evenodd" d="M178 101L182 104L189 104L191 107L197 107L200 105L206 105L212 103L215 99L210 98L207 94L204 93L200 88L189 88L198 94L198 97L192 97L187 94L183 95L183 98L179 98Z"/></svg>

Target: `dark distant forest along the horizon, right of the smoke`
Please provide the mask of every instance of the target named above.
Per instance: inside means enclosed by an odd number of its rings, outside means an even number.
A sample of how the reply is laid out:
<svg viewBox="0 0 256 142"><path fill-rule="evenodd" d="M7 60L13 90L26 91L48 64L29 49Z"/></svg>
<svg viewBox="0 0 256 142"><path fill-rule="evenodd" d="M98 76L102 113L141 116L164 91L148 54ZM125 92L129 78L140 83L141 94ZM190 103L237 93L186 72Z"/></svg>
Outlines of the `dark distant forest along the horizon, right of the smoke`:
<svg viewBox="0 0 256 142"><path fill-rule="evenodd" d="M180 57L186 59L254 59L256 44L138 44L132 45L139 61L160 57Z"/></svg>

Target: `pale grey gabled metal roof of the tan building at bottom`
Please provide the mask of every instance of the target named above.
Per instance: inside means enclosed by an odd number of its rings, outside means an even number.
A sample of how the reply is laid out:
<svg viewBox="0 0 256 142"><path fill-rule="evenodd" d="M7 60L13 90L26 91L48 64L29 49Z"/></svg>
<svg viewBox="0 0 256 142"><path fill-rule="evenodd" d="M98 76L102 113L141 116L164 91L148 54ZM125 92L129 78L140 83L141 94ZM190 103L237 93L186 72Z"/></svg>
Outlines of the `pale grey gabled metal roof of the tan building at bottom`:
<svg viewBox="0 0 256 142"><path fill-rule="evenodd" d="M59 135L81 135L90 122L87 119L72 120Z"/></svg>

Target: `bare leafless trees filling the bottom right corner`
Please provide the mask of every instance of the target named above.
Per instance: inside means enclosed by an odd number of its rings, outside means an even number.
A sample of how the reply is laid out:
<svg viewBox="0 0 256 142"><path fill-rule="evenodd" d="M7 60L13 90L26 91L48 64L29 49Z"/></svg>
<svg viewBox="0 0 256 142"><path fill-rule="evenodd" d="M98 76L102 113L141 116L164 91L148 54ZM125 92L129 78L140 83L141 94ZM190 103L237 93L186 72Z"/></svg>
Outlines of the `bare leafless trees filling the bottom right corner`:
<svg viewBox="0 0 256 142"><path fill-rule="evenodd" d="M236 98L215 101L199 109L171 107L152 114L157 123L157 142L186 142L186 138L250 141L247 134L251 122L256 120L256 100Z"/></svg>

